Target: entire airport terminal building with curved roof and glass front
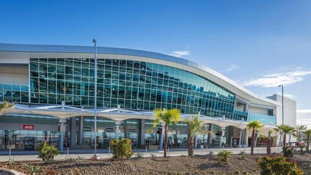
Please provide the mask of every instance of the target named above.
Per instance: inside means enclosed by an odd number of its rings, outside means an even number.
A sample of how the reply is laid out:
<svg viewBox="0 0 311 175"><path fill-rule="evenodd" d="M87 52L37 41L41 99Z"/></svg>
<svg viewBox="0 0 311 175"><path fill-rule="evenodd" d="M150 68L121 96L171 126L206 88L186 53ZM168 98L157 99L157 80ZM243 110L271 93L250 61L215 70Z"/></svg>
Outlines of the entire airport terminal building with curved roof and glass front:
<svg viewBox="0 0 311 175"><path fill-rule="evenodd" d="M117 137L131 139L135 148L161 148L164 132L161 125L153 127L155 108L182 113L169 126L171 147L188 146L183 120L195 114L214 132L197 135L197 148L248 146L249 121L265 124L260 134L282 124L281 96L259 96L189 60L107 47L97 48L97 58L95 82L94 47L0 43L0 101L15 102L0 116L0 149L24 149L29 138L59 147L59 124L66 126L65 147L93 147L97 132L99 148ZM296 102L288 98L284 124L296 125Z"/></svg>

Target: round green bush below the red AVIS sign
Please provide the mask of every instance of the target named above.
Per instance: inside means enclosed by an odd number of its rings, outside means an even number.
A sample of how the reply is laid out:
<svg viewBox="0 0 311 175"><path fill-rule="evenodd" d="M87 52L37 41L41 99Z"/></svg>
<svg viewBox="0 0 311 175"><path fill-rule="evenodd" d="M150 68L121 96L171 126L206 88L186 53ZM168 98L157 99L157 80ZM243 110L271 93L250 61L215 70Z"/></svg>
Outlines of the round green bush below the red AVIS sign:
<svg viewBox="0 0 311 175"><path fill-rule="evenodd" d="M45 163L51 163L54 157L59 154L57 148L48 145L46 142L39 143L37 150L39 151L38 158L42 158Z"/></svg>

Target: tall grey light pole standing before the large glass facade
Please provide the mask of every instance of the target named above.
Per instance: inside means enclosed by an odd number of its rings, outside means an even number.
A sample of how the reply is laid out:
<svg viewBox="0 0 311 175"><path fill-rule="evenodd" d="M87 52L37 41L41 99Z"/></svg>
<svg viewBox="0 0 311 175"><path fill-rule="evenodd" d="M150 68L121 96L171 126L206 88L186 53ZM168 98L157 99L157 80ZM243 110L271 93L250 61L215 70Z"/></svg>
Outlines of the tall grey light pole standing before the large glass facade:
<svg viewBox="0 0 311 175"><path fill-rule="evenodd" d="M94 152L95 152L95 155L94 155L94 157L96 158L96 159L99 159L99 157L97 157L97 155L96 155L96 147L97 147L97 120L96 120L96 118L97 118L97 106L96 106L96 103L97 103L97 55L96 55L96 43L97 43L97 39L96 38L94 38L93 39L93 43L94 43L94 48L95 48L95 60L94 60L94 62L95 62L95 73L94 73L94 83L95 83L95 103L94 103L94 131L95 131L95 134L94 134L94 137L95 137L95 139L94 139Z"/></svg>

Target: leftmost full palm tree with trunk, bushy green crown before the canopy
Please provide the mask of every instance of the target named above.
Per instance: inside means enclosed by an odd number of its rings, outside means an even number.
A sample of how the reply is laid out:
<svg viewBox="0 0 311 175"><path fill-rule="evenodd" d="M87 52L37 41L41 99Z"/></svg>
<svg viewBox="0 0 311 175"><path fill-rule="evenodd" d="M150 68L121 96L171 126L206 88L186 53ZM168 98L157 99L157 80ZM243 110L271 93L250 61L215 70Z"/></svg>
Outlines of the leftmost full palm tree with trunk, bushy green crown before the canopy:
<svg viewBox="0 0 311 175"><path fill-rule="evenodd" d="M169 124L177 123L180 118L179 109L155 109L155 122L154 127L159 123L164 123L164 157L166 157L167 149L167 133L169 129Z"/></svg>

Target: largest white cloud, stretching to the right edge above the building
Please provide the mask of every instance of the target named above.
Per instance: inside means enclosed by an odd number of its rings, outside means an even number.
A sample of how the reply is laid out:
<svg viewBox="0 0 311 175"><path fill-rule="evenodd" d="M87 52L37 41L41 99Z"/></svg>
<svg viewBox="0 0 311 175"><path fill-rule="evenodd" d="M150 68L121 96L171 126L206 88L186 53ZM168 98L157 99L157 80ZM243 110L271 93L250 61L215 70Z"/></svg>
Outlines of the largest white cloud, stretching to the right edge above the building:
<svg viewBox="0 0 311 175"><path fill-rule="evenodd" d="M310 75L311 70L295 70L284 73L273 73L263 75L260 78L251 79L241 82L242 86L261 86L264 88L277 87L278 85L291 85L300 82L304 76Z"/></svg>

